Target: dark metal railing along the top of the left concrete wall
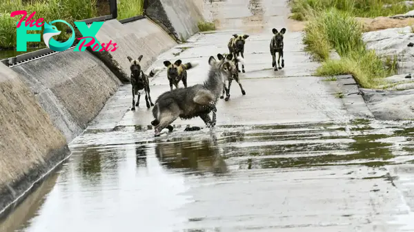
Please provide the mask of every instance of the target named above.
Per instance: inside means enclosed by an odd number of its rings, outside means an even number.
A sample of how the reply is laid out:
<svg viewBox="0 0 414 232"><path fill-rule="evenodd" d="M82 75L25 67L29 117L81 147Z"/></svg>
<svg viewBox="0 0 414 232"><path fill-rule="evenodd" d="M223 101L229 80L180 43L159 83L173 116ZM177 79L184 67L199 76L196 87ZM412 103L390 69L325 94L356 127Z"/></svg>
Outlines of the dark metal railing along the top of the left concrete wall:
<svg viewBox="0 0 414 232"><path fill-rule="evenodd" d="M118 17L118 8L117 8L117 0L108 0L108 3L110 4L110 14L103 15L100 17L95 17L92 19L83 19L79 20L78 22L85 22L86 24L91 24L93 22L101 22L101 21L108 21L110 19L117 19ZM131 17L128 19L121 19L119 20L120 23L130 23L132 21L137 21L139 19L144 19L144 15L139 15L135 17ZM76 28L76 25L74 26ZM73 45L68 50L75 48L76 45ZM50 48L43 48L34 52L28 52L25 54L21 54L19 56L10 57L8 59L0 60L1 63L7 65L8 67L12 67L14 65L20 65L21 63L26 63L29 61L33 61L36 59L41 59L46 56L50 56L52 54L57 54L59 52L55 52L53 50L50 50Z"/></svg>

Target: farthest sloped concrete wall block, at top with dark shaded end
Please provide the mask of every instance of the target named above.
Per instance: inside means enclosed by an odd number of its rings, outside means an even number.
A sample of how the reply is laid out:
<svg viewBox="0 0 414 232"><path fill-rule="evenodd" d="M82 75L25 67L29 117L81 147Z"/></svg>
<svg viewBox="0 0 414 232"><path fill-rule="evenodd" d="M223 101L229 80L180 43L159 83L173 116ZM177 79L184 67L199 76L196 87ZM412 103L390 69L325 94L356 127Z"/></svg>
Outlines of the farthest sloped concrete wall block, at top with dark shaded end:
<svg viewBox="0 0 414 232"><path fill-rule="evenodd" d="M195 0L146 0L146 15L183 42L199 32L197 23L204 21L203 11Z"/></svg>

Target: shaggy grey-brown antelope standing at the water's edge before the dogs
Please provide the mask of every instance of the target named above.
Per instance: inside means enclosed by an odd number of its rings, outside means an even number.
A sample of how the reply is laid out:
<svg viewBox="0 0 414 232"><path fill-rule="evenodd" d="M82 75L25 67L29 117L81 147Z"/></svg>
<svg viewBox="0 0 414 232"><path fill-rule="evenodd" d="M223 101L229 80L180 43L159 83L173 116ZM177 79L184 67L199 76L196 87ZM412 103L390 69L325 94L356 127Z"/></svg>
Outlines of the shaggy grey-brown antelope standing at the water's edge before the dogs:
<svg viewBox="0 0 414 232"><path fill-rule="evenodd" d="M215 105L223 90L223 76L228 78L233 75L230 69L234 67L234 61L230 54L221 61L216 61L214 56L210 56L208 63L210 70L204 83L173 89L157 98L155 107L152 108L152 116L155 119L151 122L155 127L155 136L159 136L164 128L172 131L173 127L170 124L177 118L200 117L207 127L215 126L217 112ZM208 115L210 112L213 112L213 120Z"/></svg>

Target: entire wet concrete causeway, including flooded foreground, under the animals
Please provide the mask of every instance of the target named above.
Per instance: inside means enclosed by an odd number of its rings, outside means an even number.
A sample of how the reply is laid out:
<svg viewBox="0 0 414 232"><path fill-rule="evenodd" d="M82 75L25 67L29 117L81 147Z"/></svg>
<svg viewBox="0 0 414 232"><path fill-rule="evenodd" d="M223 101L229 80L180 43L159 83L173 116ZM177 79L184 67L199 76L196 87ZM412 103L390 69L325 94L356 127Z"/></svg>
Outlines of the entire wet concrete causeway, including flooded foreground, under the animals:
<svg viewBox="0 0 414 232"><path fill-rule="evenodd" d="M154 138L144 99L130 111L130 86L121 87L72 141L39 202L26 200L17 211L26 213L1 231L414 231L413 125L357 118L333 83L312 76L317 63L299 32L286 32L284 70L271 70L271 28L287 25L282 1L214 2L222 30L193 36L154 65L199 61L188 83L204 81L208 57L228 52L259 3L266 30L248 32L246 95L232 86L215 129L184 131L204 124L176 120ZM150 83L153 101L169 89L165 71Z"/></svg>

